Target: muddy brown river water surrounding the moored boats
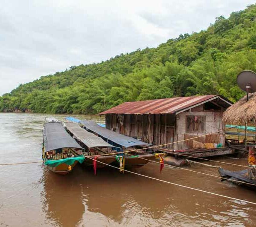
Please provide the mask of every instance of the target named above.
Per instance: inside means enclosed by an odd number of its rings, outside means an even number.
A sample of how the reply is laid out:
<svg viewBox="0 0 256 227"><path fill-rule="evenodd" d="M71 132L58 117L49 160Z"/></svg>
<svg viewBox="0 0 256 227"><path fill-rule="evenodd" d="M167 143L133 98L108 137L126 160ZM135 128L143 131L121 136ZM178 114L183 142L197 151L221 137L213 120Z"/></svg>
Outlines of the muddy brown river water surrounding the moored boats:
<svg viewBox="0 0 256 227"><path fill-rule="evenodd" d="M0 163L41 160L45 117L66 115L0 113ZM104 118L80 115L104 122ZM247 165L230 157L218 161ZM212 161L204 161L215 164ZM220 165L220 164L218 164ZM239 170L221 164L229 170ZM186 167L218 175L215 168ZM149 163L143 175L256 202L256 192L218 178ZM106 168L93 175L77 165L56 175L41 163L0 166L0 226L255 226L256 205L220 198Z"/></svg>

